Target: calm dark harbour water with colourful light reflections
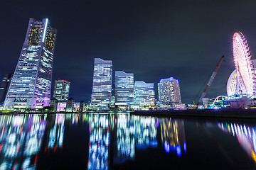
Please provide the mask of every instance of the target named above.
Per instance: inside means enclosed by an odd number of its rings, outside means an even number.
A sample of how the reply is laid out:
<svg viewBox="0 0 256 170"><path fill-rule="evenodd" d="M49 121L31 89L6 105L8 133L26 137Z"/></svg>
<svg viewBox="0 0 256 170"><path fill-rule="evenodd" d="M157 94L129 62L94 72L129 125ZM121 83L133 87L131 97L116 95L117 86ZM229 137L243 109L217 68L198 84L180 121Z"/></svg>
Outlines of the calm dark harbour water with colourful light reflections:
<svg viewBox="0 0 256 170"><path fill-rule="evenodd" d="M0 169L256 169L256 121L0 115Z"/></svg>

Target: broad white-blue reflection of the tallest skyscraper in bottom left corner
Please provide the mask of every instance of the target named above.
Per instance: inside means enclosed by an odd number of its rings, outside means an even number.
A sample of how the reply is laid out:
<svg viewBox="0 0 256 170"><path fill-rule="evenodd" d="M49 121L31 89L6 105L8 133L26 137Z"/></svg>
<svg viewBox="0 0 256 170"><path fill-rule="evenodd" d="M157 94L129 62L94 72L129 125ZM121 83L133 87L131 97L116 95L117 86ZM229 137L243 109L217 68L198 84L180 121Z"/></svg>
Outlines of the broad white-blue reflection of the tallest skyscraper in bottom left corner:
<svg viewBox="0 0 256 170"><path fill-rule="evenodd" d="M36 169L46 115L0 115L0 169Z"/></svg>

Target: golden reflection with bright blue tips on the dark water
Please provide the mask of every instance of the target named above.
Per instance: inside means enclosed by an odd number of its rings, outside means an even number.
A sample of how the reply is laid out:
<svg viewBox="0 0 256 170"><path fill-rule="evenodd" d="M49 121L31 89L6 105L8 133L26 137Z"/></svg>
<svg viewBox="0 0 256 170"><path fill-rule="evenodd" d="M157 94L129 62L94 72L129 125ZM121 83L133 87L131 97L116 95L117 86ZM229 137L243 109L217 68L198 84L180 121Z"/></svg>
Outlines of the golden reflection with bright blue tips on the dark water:
<svg viewBox="0 0 256 170"><path fill-rule="evenodd" d="M159 118L161 142L166 153L176 152L181 157L182 150L186 153L186 139L183 120Z"/></svg>

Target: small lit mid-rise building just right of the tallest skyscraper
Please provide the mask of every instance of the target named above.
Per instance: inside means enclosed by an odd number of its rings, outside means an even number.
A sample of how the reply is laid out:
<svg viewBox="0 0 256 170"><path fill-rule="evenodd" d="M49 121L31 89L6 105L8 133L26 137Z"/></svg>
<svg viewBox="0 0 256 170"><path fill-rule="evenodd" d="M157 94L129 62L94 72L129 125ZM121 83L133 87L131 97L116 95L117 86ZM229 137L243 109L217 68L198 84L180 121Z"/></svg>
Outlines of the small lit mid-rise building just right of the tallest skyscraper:
<svg viewBox="0 0 256 170"><path fill-rule="evenodd" d="M68 101L70 82L66 80L55 80L53 98L58 101Z"/></svg>

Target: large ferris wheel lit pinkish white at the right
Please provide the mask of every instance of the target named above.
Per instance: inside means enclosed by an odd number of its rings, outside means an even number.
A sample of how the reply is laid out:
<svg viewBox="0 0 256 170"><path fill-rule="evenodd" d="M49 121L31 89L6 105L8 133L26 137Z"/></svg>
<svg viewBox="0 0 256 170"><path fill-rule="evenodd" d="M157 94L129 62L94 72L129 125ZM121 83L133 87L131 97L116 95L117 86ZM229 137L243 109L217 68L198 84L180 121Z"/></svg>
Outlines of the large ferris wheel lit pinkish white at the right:
<svg viewBox="0 0 256 170"><path fill-rule="evenodd" d="M237 72L236 94L255 94L255 68L249 46L241 32L233 35L233 57Z"/></svg>

